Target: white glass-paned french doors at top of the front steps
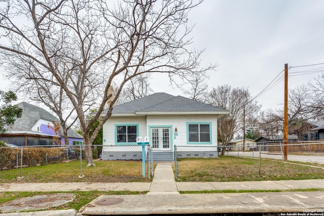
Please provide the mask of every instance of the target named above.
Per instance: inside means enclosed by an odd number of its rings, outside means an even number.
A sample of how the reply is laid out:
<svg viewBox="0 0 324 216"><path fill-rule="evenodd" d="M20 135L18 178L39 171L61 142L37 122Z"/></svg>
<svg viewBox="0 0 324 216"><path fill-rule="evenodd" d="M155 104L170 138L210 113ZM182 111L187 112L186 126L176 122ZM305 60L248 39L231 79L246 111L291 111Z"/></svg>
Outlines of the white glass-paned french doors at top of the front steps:
<svg viewBox="0 0 324 216"><path fill-rule="evenodd" d="M151 145L153 150L171 150L170 127L152 127Z"/></svg>

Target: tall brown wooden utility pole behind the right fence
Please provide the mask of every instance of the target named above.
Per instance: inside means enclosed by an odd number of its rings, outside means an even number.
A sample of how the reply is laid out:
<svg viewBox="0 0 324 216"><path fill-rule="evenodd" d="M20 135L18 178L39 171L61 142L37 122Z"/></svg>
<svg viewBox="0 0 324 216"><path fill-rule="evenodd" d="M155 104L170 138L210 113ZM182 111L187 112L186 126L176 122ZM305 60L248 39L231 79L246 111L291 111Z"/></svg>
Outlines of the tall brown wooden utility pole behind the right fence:
<svg viewBox="0 0 324 216"><path fill-rule="evenodd" d="M288 159L288 64L285 64L284 161Z"/></svg>

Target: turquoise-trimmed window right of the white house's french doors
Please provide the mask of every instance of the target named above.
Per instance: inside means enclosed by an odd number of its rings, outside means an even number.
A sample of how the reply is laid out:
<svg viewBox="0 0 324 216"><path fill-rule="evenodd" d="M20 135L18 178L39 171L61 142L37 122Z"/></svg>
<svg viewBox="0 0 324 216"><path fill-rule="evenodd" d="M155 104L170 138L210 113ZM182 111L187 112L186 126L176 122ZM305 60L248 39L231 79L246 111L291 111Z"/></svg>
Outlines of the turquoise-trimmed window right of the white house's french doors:
<svg viewBox="0 0 324 216"><path fill-rule="evenodd" d="M189 143L211 143L211 123L187 123Z"/></svg>

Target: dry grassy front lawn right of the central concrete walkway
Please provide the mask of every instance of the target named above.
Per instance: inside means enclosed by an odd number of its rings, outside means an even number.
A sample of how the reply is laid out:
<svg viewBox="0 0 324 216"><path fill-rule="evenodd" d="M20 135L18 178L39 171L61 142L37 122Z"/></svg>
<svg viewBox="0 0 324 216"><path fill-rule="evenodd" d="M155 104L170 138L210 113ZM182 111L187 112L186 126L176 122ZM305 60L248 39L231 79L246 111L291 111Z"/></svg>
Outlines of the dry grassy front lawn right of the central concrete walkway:
<svg viewBox="0 0 324 216"><path fill-rule="evenodd" d="M307 164L316 166L316 164ZM178 159L180 182L237 182L324 179L324 170L281 160L262 159L261 175L259 160L220 156L219 158Z"/></svg>

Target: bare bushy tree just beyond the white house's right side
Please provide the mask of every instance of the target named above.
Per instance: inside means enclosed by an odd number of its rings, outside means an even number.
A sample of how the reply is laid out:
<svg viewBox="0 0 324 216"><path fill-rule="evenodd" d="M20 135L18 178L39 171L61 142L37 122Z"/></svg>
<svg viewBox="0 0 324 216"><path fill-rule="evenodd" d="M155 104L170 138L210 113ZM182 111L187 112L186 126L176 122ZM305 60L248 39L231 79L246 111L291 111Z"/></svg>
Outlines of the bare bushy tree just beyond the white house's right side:
<svg viewBox="0 0 324 216"><path fill-rule="evenodd" d="M222 143L222 146L227 146L234 135L241 132L244 106L246 118L256 114L261 108L256 101L251 101L251 99L248 89L244 87L232 88L230 85L221 85L210 92L210 104L230 111L229 115L218 119L217 122L218 141ZM224 154L225 148L222 148L222 155Z"/></svg>

